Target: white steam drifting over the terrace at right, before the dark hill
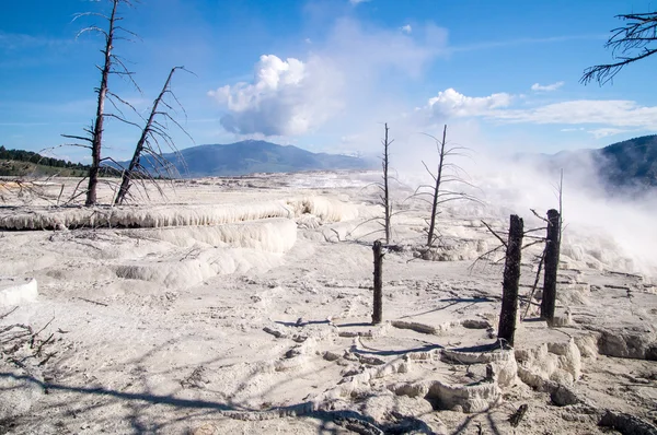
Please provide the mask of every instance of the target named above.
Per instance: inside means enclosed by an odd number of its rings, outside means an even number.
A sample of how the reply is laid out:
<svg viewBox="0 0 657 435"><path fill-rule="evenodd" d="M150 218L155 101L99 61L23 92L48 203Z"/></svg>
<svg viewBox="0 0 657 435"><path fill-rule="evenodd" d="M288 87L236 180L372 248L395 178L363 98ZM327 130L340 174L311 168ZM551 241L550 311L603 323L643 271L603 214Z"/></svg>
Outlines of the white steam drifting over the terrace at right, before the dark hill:
<svg viewBox="0 0 657 435"><path fill-rule="evenodd" d="M460 136L464 140L459 137L463 131L465 133ZM441 137L440 133L435 136ZM549 209L560 208L558 167L548 167L541 158L494 153L491 150L495 146L476 146L476 133L465 129L457 129L457 134L451 134L452 138L454 136L451 145L475 143L471 158L458 156L449 162L460 165L464 169L463 178L477 189L458 184L450 185L449 189L475 195L485 207L454 201L447 207L451 214L508 221L509 214L516 213L525 219L526 227L537 227L541 226L541 221L532 215L531 209L545 215ZM436 173L438 154L435 143L429 138L408 142L414 144L403 146L404 152L400 152L403 155L396 161L400 165L395 166L396 156L393 155L392 165L400 169L400 180L413 189L433 184L422 161ZM598 269L608 264L646 274L657 272L657 260L653 256L653 246L657 244L657 230L653 222L657 200L649 191L624 190L610 195L602 186L596 163L586 153L570 156L563 184L563 237L567 256L585 260L588 266ZM589 254L588 260L584 258L586 252Z"/></svg>

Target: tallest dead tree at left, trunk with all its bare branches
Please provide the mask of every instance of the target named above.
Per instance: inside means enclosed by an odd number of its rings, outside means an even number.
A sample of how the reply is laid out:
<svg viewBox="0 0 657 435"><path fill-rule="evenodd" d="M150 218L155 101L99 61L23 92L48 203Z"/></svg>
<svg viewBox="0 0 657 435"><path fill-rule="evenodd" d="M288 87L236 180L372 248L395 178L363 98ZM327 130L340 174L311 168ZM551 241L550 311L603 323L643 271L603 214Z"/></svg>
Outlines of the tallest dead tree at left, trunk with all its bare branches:
<svg viewBox="0 0 657 435"><path fill-rule="evenodd" d="M130 2L130 0L110 0L110 1L112 2L112 13L108 16L104 15L102 13L97 13L97 12L85 12L85 13L76 15L76 20L79 17L82 17L82 16L97 16L97 17L102 17L103 20L107 21L107 30L101 28L100 26L96 26L96 25L92 25L92 26L81 30L78 33L78 36L80 36L87 32L96 32L104 36L105 45L104 45L104 48L101 50L101 52L103 54L103 57L104 57L104 62L103 62L102 67L96 66L96 68L101 71L101 83L100 83L99 87L95 89L95 92L97 94L97 105L96 105L95 118L91 125L91 128L84 129L84 131L89 134L89 137L62 134L62 137L65 137L65 138L81 140L87 143L87 144L73 143L71 145L91 149L91 166L89 169L89 186L87 189L87 200L84 202L84 204L88 207L94 205L97 201L96 190L97 190L97 184L99 184L99 175L101 172L101 164L104 161L104 158L102 158L101 154L102 154L102 148L103 148L103 131L104 131L103 126L104 126L105 118L114 117L120 121L136 126L134 122L129 122L125 119L125 117L120 113L120 109L118 109L118 107L111 99L111 97L115 97L118 102L120 102L122 104L125 104L129 107L131 107L131 106L127 102L125 102L124 99L118 97L117 95L113 94L110 91L110 85L108 85L110 75L118 74L124 78L127 78L129 81L132 82L132 84L137 89L139 89L139 86L137 86L137 84L132 80L132 72L128 71L128 69L125 67L123 60L113 52L115 40L126 39L125 37L117 36L117 32L124 32L129 35L135 35L132 32L127 31L126 28L118 25L118 22L122 21L123 19L117 15L117 10L118 10L119 4L123 3L126 5L131 5L131 2ZM117 67L118 69L116 69L115 67ZM106 101L110 101L120 115L107 114L105 111Z"/></svg>

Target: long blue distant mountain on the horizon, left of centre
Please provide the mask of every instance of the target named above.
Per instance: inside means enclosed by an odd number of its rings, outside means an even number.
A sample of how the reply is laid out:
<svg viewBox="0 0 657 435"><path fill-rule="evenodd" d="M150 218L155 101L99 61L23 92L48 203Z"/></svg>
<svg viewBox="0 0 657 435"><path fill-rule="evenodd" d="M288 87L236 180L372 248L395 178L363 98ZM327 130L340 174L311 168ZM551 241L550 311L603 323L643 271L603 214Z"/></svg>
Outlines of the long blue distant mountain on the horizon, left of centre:
<svg viewBox="0 0 657 435"><path fill-rule="evenodd" d="M348 155L311 153L292 145L247 140L226 145L199 145L165 154L183 177L234 176L321 169L366 169L370 162ZM181 158L182 157L182 158ZM127 162L123 165L127 166ZM152 165L143 158L142 165ZM152 166L151 166L152 167Z"/></svg>

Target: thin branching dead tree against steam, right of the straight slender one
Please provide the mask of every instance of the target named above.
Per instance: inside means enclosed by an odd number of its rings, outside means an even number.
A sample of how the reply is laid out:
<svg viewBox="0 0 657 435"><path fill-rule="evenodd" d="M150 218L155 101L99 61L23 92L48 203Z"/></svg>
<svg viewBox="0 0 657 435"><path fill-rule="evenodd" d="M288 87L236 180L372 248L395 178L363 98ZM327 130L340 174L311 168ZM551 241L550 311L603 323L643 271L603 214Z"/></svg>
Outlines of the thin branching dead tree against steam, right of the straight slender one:
<svg viewBox="0 0 657 435"><path fill-rule="evenodd" d="M427 232L427 246L431 247L437 238L437 236L436 236L436 217L440 213L439 207L446 202L460 200L460 199L475 201L475 202L479 202L479 200L475 197L473 197L472 195L466 193L464 191L454 191L454 190L448 190L445 188L446 185L453 184L453 183L474 187L470 183L468 183L463 179L463 174L464 174L463 168L461 168L459 165L456 165L453 163L446 162L446 158L448 158L449 156L465 155L464 151L468 151L468 149L464 146L451 146L451 148L447 146L447 125L445 126L445 128L442 130L442 140L441 141L430 134L426 134L426 136L434 139L434 141L436 142L436 146L438 149L438 171L436 174L434 174L429 169L429 167L426 165L426 163L422 162L422 164L427 169L427 172L429 173L431 178L434 178L434 184L431 186L429 186L429 185L419 186L415 190L415 193L413 195L413 197L417 197L422 200L429 202L429 204L431 207L431 214L428 220L429 230ZM448 174L446 174L447 169L452 169L452 172L448 175ZM426 190L423 191L423 189L426 189ZM430 197L430 200L423 198L426 196Z"/></svg>

